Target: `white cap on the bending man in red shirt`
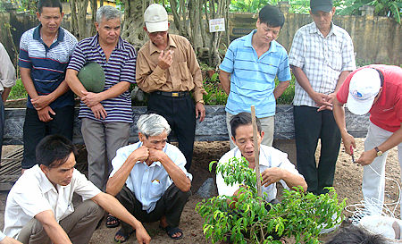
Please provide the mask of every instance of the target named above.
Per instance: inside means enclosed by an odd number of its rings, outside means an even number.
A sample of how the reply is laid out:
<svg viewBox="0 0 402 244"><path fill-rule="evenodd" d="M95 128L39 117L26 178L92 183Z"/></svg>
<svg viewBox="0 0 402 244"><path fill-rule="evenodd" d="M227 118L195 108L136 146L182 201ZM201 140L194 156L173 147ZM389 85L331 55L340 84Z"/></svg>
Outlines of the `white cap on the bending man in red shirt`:
<svg viewBox="0 0 402 244"><path fill-rule="evenodd" d="M381 88L380 74L372 68L356 72L349 84L348 110L353 114L367 114Z"/></svg>

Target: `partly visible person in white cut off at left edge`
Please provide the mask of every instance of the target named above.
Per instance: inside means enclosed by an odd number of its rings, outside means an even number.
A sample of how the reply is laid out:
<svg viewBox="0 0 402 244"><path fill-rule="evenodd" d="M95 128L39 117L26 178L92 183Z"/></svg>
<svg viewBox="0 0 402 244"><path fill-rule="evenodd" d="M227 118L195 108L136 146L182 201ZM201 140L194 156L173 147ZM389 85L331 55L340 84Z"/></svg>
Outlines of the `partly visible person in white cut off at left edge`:
<svg viewBox="0 0 402 244"><path fill-rule="evenodd" d="M11 89L15 85L15 82L16 78L14 65L3 44L0 43L0 93L2 94L2 98L0 99L0 157L2 155L5 126L4 103L5 100L7 100Z"/></svg>

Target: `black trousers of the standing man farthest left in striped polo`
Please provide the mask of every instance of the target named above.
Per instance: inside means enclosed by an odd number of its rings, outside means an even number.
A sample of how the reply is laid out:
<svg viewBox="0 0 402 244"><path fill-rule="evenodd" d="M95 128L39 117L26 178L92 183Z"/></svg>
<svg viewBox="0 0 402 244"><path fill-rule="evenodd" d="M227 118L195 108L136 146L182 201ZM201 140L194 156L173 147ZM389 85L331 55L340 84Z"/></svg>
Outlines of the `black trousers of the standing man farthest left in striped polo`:
<svg viewBox="0 0 402 244"><path fill-rule="evenodd" d="M27 108L24 122L24 158L21 162L22 169L29 169L37 164L36 148L39 141L47 135L63 135L72 140L74 126L74 107L66 105L53 110L55 115L50 115L53 120L41 122L36 109Z"/></svg>

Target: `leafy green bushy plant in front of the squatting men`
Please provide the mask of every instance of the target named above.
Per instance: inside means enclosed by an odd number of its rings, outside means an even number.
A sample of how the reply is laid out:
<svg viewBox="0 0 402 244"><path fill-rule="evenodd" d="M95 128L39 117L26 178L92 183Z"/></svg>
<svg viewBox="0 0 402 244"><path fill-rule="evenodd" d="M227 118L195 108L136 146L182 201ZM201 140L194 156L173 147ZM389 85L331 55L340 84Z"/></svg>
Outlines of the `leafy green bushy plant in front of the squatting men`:
<svg viewBox="0 0 402 244"><path fill-rule="evenodd" d="M210 171L214 164L216 161L211 162ZM237 197L218 196L197 204L196 211L205 219L205 239L213 243L281 243L279 238L293 236L297 243L315 244L322 229L343 219L346 199L339 203L333 188L320 196L305 193L302 187L284 189L281 204L272 205L257 197L255 171L244 157L217 164L216 173L222 173L226 184L242 187Z"/></svg>

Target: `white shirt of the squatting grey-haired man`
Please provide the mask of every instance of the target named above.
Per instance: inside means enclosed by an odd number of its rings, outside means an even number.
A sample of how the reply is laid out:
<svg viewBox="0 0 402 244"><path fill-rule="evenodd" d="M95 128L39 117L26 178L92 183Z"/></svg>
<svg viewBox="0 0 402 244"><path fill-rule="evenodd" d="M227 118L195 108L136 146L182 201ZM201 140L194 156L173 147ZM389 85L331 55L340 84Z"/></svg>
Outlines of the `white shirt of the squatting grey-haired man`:
<svg viewBox="0 0 402 244"><path fill-rule="evenodd" d="M113 171L109 177L112 177L121 168L121 165L124 164L130 154L141 146L142 142L138 141L136 144L121 147L117 150L116 156L112 160ZM191 173L187 172L184 167L186 165L186 158L178 147L166 143L163 147L163 152L171 158L174 164L179 166L181 171L190 180L193 179ZM148 166L145 162L141 163L138 161L134 164L126 184L138 201L142 203L142 209L150 213L155 209L156 202L162 198L164 191L172 184L172 179L160 162L154 162Z"/></svg>

